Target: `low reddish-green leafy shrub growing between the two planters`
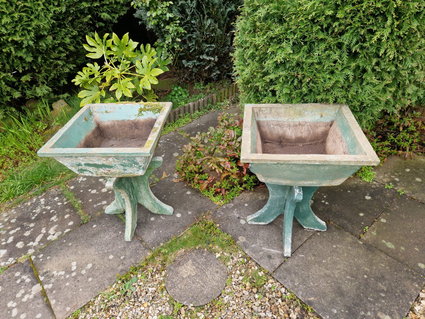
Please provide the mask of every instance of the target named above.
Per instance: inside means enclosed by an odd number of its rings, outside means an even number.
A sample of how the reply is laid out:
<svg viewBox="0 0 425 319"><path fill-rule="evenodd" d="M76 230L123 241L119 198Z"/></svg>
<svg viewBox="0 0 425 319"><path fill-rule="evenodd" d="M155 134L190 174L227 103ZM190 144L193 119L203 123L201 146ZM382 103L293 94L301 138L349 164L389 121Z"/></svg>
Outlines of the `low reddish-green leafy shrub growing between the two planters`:
<svg viewBox="0 0 425 319"><path fill-rule="evenodd" d="M240 161L242 123L236 114L221 114L218 126L191 137L177 160L181 178L220 205L255 185L249 164Z"/></svg>

